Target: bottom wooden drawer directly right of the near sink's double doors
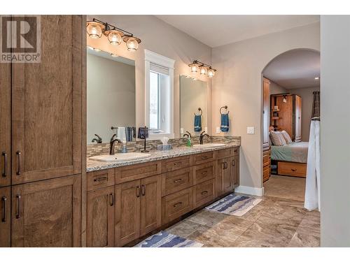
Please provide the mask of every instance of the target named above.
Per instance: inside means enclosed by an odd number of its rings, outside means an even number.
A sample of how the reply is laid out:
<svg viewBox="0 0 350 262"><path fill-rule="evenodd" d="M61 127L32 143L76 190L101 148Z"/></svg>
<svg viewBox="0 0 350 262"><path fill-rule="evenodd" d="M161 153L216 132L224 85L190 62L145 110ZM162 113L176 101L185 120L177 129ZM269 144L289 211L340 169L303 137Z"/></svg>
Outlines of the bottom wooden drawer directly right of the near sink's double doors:
<svg viewBox="0 0 350 262"><path fill-rule="evenodd" d="M162 198L162 224L193 210L193 187Z"/></svg>

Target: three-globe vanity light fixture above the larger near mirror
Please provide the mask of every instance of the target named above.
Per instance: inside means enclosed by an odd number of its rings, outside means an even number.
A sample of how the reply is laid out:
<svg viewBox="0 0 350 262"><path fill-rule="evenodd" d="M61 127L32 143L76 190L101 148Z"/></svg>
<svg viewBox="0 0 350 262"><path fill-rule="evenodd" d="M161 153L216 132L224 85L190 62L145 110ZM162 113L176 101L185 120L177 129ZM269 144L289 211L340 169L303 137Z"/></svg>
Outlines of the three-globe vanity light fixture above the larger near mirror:
<svg viewBox="0 0 350 262"><path fill-rule="evenodd" d="M86 32L91 38L101 38L104 34L111 45L120 45L123 40L129 51L137 50L141 43L141 39L132 33L96 18L86 22Z"/></svg>

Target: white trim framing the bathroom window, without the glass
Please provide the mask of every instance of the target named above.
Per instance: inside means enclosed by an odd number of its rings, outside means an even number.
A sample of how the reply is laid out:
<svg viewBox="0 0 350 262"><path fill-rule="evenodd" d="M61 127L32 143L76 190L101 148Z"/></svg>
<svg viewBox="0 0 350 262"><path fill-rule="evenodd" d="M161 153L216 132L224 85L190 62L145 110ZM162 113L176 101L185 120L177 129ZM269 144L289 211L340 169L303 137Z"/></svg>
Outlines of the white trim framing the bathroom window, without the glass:
<svg viewBox="0 0 350 262"><path fill-rule="evenodd" d="M150 65L158 64L169 68L170 82L170 126L168 133L149 133L148 138L151 140L160 139L163 136L174 138L174 64L175 60L165 57L162 54L157 54L150 50L145 50L145 123L149 126L150 122Z"/></svg>

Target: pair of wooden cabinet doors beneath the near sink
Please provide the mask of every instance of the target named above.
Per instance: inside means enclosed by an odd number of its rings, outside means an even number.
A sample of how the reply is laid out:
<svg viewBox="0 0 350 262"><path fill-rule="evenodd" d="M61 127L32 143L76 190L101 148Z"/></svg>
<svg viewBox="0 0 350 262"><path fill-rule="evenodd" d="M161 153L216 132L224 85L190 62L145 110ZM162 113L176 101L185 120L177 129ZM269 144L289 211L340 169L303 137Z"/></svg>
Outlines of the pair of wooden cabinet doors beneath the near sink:
<svg viewBox="0 0 350 262"><path fill-rule="evenodd" d="M161 226L161 178L116 184L116 246L121 247Z"/></svg>

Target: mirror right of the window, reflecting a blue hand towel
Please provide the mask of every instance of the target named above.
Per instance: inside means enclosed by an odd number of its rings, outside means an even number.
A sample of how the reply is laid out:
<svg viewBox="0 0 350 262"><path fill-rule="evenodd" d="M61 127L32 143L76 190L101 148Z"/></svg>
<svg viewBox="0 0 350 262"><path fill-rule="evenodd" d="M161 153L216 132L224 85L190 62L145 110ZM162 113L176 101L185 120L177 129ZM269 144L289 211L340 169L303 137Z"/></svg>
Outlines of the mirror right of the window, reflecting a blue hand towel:
<svg viewBox="0 0 350 262"><path fill-rule="evenodd" d="M207 92L207 82L195 80L187 75L180 76L181 137L186 131L198 136L201 131L207 130Z"/></svg>

